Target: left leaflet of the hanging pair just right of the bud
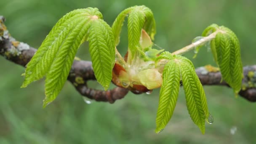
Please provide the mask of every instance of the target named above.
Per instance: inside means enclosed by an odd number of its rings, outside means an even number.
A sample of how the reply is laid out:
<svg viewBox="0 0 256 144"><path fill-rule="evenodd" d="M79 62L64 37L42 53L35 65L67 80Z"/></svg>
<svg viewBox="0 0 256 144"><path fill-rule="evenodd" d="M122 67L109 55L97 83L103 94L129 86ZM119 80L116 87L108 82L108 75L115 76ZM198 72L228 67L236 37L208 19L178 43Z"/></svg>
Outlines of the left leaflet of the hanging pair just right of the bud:
<svg viewBox="0 0 256 144"><path fill-rule="evenodd" d="M156 133L163 131L173 115L179 95L180 73L179 64L174 60L171 60L164 67L156 118Z"/></svg>

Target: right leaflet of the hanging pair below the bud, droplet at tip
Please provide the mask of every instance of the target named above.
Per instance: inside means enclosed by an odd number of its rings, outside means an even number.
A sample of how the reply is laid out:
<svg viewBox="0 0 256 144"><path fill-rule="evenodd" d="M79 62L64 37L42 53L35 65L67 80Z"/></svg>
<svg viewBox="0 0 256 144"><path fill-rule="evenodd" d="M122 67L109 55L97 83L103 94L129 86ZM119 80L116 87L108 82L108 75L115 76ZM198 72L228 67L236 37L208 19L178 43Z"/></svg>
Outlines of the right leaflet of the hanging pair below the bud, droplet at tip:
<svg viewBox="0 0 256 144"><path fill-rule="evenodd" d="M205 119L208 118L209 112L203 86L195 73L192 62L182 56L176 56L176 59L179 61L189 115L204 134Z"/></svg>

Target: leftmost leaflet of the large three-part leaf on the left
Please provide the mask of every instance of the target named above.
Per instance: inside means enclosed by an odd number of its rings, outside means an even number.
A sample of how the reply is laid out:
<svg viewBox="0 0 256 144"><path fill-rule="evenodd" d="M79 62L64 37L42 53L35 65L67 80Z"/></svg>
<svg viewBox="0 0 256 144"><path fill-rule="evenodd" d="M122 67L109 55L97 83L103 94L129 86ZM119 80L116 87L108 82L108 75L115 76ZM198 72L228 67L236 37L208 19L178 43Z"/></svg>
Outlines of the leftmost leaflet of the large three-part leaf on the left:
<svg viewBox="0 0 256 144"><path fill-rule="evenodd" d="M35 80L41 79L48 72L56 53L59 51L59 47L62 45L62 41L66 40L69 32L80 22L77 21L77 19L88 15L90 12L101 16L101 13L96 13L96 11L97 9L93 8L77 9L67 13L56 23L31 61L27 64L25 80L21 86L22 88L27 87L29 83Z"/></svg>

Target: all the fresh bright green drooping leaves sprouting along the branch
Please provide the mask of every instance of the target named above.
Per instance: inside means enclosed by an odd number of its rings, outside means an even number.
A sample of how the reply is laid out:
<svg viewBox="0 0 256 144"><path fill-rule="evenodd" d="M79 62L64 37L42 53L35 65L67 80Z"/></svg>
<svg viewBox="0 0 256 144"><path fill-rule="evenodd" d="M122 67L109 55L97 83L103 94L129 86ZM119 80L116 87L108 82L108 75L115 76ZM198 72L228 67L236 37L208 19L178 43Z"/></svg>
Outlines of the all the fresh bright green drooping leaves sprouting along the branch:
<svg viewBox="0 0 256 144"><path fill-rule="evenodd" d="M80 44L88 41L93 71L96 79L106 91L112 80L115 61L120 59L115 46L120 42L123 22L128 17L127 63L132 64L133 59L153 62L155 67L151 65L142 69L141 72L142 74L153 74L152 72L154 72L157 74L157 80L162 83L156 83L155 80L149 82L144 75L137 77L137 79L143 79L140 80L141 83L143 82L142 85L149 89L161 85L156 132L161 132L171 119L182 82L189 115L200 131L205 133L205 120L208 120L208 117L211 118L211 115L208 112L203 86L189 59L166 51L161 53L163 50L152 48L151 40L154 40L156 33L152 11L144 5L127 8L117 16L112 27L102 17L97 8L77 9L63 16L27 64L24 73L25 80L21 87L27 87L33 81L45 76L45 100L43 103L43 107L45 107L56 98L63 88ZM238 38L227 27L219 27L216 24L207 27L203 31L202 37L199 38L209 38L210 36L211 51L220 68L223 80L237 94L241 89L243 77ZM197 37L195 40L199 38ZM201 43L196 51L199 51L203 44L205 43ZM159 53L161 54L159 55ZM163 67L161 69L158 67L158 63L163 59L167 63L164 66L160 64L160 67ZM123 59L123 61L125 60ZM125 78L128 79L128 73L125 68L123 69Z"/></svg>

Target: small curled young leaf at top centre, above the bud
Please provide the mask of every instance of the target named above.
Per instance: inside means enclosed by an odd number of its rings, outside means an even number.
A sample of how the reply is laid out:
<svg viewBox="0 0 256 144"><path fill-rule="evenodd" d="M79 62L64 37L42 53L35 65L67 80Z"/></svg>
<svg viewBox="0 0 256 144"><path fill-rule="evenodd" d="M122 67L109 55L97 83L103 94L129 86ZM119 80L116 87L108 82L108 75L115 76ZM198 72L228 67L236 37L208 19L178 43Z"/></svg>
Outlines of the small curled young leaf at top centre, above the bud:
<svg viewBox="0 0 256 144"><path fill-rule="evenodd" d="M133 6L122 11L115 19L112 25L112 31L115 37L115 45L119 43L119 35L123 26L125 17L128 16L128 63L131 63L135 53L140 48L140 36L141 29L150 35L151 39L154 39L155 31L155 19L152 11L144 5Z"/></svg>

